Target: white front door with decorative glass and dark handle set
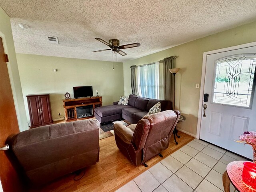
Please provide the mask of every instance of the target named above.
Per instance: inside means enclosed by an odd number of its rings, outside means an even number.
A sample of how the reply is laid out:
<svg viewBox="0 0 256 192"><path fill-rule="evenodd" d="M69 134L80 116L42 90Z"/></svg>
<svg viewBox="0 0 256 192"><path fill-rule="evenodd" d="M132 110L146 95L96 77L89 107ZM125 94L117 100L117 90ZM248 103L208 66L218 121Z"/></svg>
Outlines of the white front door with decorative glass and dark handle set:
<svg viewBox="0 0 256 192"><path fill-rule="evenodd" d="M200 139L250 159L252 147L235 140L256 130L255 66L256 46L207 55L200 128Z"/></svg>

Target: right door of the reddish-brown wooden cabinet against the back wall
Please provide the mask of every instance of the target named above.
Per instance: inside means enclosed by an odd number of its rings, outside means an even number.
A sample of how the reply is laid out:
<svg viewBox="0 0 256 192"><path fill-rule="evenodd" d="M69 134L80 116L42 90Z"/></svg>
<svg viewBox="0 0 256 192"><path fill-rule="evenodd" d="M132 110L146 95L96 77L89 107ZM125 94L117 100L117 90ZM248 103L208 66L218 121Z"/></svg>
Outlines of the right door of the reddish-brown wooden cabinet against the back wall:
<svg viewBox="0 0 256 192"><path fill-rule="evenodd" d="M42 124L52 123L52 115L50 109L49 96L39 96L40 113L42 118Z"/></svg>

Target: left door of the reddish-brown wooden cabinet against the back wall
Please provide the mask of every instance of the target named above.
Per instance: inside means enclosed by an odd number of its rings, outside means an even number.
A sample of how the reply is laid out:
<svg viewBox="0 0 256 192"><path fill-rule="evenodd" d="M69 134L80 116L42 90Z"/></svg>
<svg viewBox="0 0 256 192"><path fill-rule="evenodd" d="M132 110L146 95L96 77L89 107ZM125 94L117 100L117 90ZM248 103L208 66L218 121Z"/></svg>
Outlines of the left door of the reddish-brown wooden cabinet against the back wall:
<svg viewBox="0 0 256 192"><path fill-rule="evenodd" d="M40 106L38 96L28 97L28 109L30 114L31 126L41 125Z"/></svg>

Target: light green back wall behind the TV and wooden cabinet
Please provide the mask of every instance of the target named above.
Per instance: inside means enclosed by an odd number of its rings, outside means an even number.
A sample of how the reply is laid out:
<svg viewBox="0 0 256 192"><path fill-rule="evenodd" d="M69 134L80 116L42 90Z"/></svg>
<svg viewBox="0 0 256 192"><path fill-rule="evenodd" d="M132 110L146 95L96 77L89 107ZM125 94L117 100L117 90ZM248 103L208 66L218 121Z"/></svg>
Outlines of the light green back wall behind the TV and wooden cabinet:
<svg viewBox="0 0 256 192"><path fill-rule="evenodd" d="M17 54L17 61L28 122L28 94L50 93L54 120L59 119L59 112L64 115L62 99L66 92L74 97L73 86L93 86L94 95L98 90L103 105L124 95L122 63L112 70L112 62L30 54Z"/></svg>

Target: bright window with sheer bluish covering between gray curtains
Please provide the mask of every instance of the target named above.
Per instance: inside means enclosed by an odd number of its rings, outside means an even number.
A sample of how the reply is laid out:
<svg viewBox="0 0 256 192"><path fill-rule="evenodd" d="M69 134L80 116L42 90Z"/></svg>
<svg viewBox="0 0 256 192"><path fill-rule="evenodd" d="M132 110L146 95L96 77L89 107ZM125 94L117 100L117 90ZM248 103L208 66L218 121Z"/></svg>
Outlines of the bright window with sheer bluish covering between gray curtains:
<svg viewBox="0 0 256 192"><path fill-rule="evenodd" d="M138 94L159 99L159 62L138 66Z"/></svg>

